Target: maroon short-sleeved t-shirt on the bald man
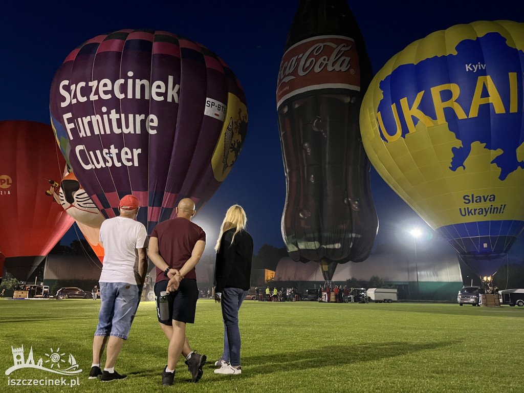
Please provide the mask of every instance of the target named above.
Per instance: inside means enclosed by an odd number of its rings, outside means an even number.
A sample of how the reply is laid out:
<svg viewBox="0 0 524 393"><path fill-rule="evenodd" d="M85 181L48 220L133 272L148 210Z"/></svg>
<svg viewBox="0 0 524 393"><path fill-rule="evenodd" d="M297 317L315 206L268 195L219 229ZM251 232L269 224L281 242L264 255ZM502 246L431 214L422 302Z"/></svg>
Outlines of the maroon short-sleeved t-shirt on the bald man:
<svg viewBox="0 0 524 393"><path fill-rule="evenodd" d="M205 242L204 230L182 217L157 224L151 233L151 237L158 239L160 256L170 267L178 270L191 258L196 242L199 240ZM185 278L196 280L195 269L193 268L185 275ZM163 275L163 270L157 267L157 279L155 282L162 280L167 280L167 277Z"/></svg>

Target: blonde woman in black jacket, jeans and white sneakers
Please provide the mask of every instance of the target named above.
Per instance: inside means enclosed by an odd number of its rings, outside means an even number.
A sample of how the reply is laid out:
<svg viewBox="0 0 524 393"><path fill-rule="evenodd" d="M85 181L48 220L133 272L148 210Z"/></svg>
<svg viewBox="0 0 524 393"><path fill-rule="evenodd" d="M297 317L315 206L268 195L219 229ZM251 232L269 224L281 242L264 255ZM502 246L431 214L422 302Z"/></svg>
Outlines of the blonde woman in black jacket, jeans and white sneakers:
<svg viewBox="0 0 524 393"><path fill-rule="evenodd" d="M250 287L253 257L253 238L245 230L246 222L242 206L227 209L215 246L215 300L221 304L224 321L224 352L215 363L221 366L215 374L242 374L238 310Z"/></svg>

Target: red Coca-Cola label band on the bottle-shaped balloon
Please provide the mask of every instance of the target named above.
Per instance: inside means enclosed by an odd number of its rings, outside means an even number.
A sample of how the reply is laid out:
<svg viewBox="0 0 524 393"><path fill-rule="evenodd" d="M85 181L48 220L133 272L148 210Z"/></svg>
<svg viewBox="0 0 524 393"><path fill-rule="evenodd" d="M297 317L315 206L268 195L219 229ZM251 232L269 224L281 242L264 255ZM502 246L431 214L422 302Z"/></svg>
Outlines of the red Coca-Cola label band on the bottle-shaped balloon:
<svg viewBox="0 0 524 393"><path fill-rule="evenodd" d="M360 91L355 41L343 36L316 36L290 47L280 63L277 108L293 95L319 89Z"/></svg>

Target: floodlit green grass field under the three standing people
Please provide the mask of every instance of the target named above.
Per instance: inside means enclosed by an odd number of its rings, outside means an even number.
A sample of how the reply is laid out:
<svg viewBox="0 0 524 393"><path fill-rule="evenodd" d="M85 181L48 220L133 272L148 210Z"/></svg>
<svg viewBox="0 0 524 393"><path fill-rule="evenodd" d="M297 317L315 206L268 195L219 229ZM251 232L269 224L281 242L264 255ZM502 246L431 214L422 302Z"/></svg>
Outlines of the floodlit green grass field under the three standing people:
<svg viewBox="0 0 524 393"><path fill-rule="evenodd" d="M6 392L483 392L524 391L524 308L458 304L325 304L245 301L239 376L213 373L222 354L219 304L199 300L188 325L193 350L208 356L191 384L177 366L175 384L161 386L168 341L153 302L142 302L118 358L122 381L89 380L100 300L0 300L0 391ZM55 378L13 366L11 347L32 346L35 362L52 350L69 353L83 372L80 386L8 386L9 379Z"/></svg>

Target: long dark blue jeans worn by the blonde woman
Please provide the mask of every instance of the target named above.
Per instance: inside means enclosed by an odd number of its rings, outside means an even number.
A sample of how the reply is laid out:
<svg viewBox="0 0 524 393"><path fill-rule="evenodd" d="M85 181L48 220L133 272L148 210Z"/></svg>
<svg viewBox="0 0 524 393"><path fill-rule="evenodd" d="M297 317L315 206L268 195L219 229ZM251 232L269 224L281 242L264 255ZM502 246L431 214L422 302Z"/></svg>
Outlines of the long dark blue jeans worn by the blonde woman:
<svg viewBox="0 0 524 393"><path fill-rule="evenodd" d="M240 330L238 329L238 310L247 291L240 288L224 288L220 301L224 322L224 353L222 360L232 366L240 365Z"/></svg>

